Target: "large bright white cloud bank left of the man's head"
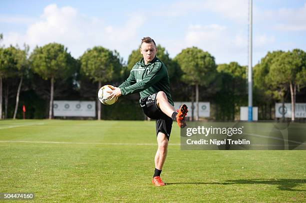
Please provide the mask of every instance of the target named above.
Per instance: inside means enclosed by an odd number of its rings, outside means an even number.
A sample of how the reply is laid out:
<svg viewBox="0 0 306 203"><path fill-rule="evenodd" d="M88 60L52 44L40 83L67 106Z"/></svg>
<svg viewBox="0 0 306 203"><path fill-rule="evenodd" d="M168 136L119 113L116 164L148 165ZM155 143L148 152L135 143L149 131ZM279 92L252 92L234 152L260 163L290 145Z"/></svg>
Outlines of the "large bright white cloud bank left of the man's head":
<svg viewBox="0 0 306 203"><path fill-rule="evenodd" d="M123 26L109 25L103 19L86 16L77 9L50 4L43 10L39 19L29 24L25 34L17 32L3 33L5 45L26 43L31 49L50 42L62 43L68 47L72 56L80 56L87 48L102 45L116 49L127 57L129 44L138 43L137 30L145 18L132 15L126 18ZM134 42L134 43L131 43Z"/></svg>

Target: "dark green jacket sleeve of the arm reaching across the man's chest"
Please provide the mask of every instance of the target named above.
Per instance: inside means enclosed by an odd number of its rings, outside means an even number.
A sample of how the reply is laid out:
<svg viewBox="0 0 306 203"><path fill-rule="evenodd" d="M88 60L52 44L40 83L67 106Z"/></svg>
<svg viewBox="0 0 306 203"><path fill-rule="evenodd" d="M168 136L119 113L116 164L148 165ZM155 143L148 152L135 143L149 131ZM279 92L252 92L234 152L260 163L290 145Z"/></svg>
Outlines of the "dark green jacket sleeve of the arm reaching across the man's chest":
<svg viewBox="0 0 306 203"><path fill-rule="evenodd" d="M164 75L165 74L164 69L162 68L162 64L160 62L156 63L153 66L152 70L146 76L144 76L141 81L138 81L135 84L129 85L127 87L122 87L121 93L122 95L127 95L136 92L141 92L158 82L164 77Z"/></svg>

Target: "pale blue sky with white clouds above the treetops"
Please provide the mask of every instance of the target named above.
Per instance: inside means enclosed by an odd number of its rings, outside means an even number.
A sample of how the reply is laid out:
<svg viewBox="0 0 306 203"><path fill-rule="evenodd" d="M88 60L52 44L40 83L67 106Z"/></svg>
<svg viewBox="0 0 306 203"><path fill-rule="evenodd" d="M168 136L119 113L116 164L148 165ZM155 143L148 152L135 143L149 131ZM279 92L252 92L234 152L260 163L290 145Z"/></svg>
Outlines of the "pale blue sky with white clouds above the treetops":
<svg viewBox="0 0 306 203"><path fill-rule="evenodd" d="M216 63L247 64L248 0L1 1L2 45L64 44L72 56L101 45L126 61L143 36L175 57L197 46ZM306 50L305 0L253 0L253 64L267 51Z"/></svg>

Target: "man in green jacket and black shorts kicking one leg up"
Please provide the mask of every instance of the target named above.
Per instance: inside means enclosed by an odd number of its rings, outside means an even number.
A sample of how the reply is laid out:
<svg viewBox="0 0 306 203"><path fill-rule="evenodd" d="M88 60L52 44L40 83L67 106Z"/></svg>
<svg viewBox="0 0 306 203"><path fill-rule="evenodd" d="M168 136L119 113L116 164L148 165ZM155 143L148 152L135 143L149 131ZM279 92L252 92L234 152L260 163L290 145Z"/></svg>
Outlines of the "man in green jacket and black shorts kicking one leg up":
<svg viewBox="0 0 306 203"><path fill-rule="evenodd" d="M114 90L108 91L110 97L119 97L139 92L140 106L144 114L156 119L158 149L155 155L155 172L152 183L164 186L160 173L167 155L172 120L180 128L185 127L187 106L181 105L177 111L170 95L169 76L165 65L156 57L156 44L150 37L141 39L140 53L143 58L132 67L128 78Z"/></svg>

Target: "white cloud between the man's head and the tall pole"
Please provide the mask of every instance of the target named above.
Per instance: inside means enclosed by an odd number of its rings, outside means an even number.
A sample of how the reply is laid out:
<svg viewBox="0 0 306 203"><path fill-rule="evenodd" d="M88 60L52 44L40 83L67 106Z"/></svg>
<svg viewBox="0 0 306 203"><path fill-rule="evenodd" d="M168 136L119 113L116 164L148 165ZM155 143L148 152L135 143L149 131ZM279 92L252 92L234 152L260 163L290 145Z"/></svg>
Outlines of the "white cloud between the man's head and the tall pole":
<svg viewBox="0 0 306 203"><path fill-rule="evenodd" d="M244 65L247 62L247 35L241 30L237 33L220 24L190 24L182 40L163 40L161 44L171 57L184 48L196 46L214 56L216 63L238 61Z"/></svg>

